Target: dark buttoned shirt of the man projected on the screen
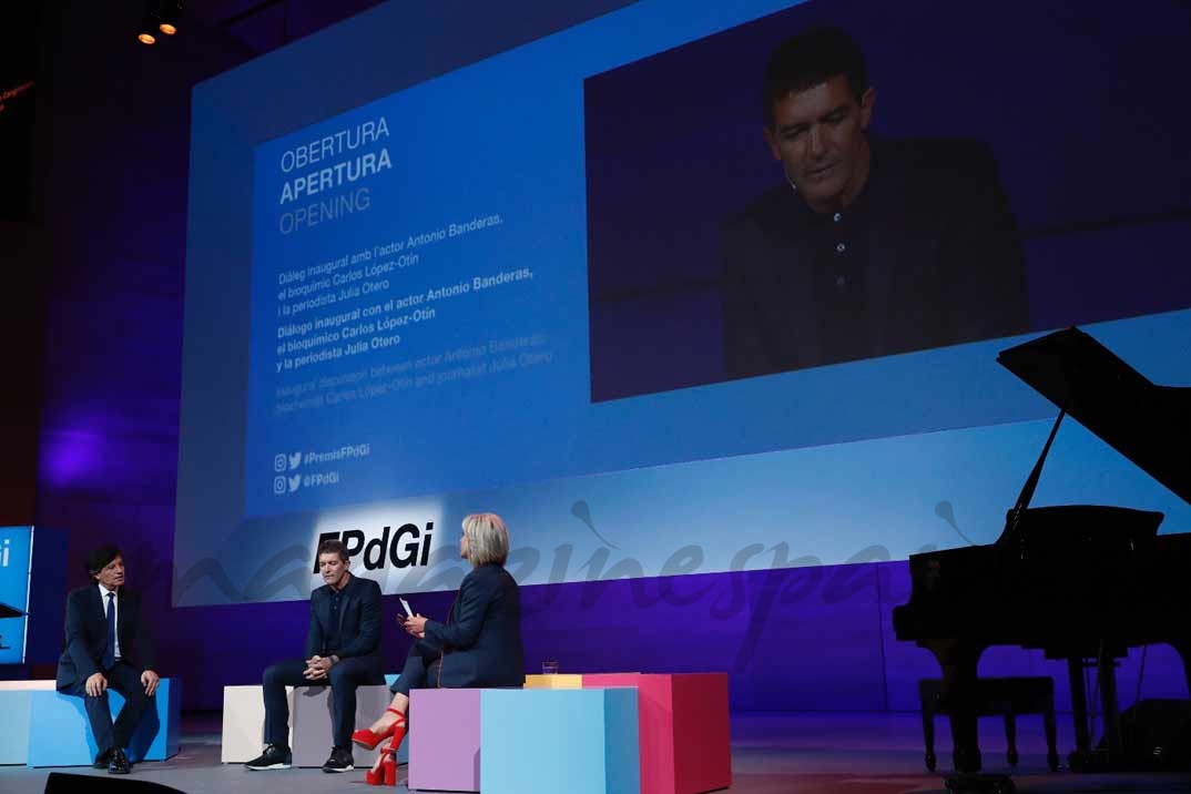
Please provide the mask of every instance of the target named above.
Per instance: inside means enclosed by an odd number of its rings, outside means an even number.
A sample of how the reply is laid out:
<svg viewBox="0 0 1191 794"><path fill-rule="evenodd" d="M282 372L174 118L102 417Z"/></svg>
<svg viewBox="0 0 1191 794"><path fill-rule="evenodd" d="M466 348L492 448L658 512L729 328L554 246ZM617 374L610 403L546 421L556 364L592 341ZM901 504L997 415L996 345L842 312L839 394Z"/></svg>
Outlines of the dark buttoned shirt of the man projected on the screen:
<svg viewBox="0 0 1191 794"><path fill-rule="evenodd" d="M782 183L725 224L729 377L1028 330L1021 243L987 148L871 146L868 180L838 212L815 213Z"/></svg>

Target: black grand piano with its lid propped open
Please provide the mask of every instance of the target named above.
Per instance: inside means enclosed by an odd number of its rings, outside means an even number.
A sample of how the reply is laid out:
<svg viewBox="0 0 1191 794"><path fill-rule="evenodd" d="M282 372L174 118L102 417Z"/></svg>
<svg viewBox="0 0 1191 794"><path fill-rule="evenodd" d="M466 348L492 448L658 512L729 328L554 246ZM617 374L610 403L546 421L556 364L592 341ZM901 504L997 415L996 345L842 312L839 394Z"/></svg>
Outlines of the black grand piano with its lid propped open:
<svg viewBox="0 0 1191 794"><path fill-rule="evenodd" d="M893 609L893 630L942 668L958 773L980 770L973 684L991 645L1065 659L1072 765L1123 768L1116 659L1168 643L1191 688L1191 532L1158 534L1156 512L1029 502L1066 415L1191 502L1191 387L1155 386L1079 329L1010 348L997 361L1054 402L1059 417L994 543L910 557L910 601ZM1099 668L1102 750L1091 743L1085 663Z"/></svg>

